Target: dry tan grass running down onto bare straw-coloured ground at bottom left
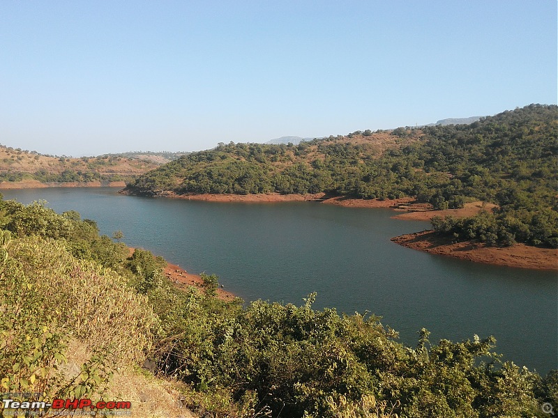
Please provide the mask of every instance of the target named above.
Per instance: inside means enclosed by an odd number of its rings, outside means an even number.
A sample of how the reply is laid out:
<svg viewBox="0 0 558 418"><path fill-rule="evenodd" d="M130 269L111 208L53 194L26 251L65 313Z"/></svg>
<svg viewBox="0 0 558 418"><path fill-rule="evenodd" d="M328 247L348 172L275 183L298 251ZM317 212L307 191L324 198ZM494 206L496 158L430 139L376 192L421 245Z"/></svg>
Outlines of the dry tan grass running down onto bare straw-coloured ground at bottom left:
<svg viewBox="0 0 558 418"><path fill-rule="evenodd" d="M38 392L129 401L133 417L193 417L181 407L177 382L155 378L137 366L149 350L155 321L146 297L112 270L77 261L60 242L29 237L8 244L36 302L66 333L63 357L57 357L57 367L49 372L48 390ZM36 380L36 386L31 380L25 389L37 392L43 380ZM75 390L84 385L89 389L78 395ZM46 416L55 415L52 410Z"/></svg>

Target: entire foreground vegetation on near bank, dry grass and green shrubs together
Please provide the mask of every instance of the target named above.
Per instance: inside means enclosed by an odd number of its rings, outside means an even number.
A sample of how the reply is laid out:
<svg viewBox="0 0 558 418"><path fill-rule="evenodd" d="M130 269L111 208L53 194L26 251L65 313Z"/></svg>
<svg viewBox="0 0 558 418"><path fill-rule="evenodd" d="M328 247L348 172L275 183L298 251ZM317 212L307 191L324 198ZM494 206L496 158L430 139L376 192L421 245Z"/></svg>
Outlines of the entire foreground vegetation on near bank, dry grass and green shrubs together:
<svg viewBox="0 0 558 418"><path fill-rule="evenodd" d="M0 386L45 398L105 394L117 368L153 359L214 417L544 417L545 378L502 364L492 337L415 347L368 314L339 315L176 290L165 261L100 237L77 212L0 203ZM213 291L212 291L213 290ZM68 374L68 341L91 357Z"/></svg>

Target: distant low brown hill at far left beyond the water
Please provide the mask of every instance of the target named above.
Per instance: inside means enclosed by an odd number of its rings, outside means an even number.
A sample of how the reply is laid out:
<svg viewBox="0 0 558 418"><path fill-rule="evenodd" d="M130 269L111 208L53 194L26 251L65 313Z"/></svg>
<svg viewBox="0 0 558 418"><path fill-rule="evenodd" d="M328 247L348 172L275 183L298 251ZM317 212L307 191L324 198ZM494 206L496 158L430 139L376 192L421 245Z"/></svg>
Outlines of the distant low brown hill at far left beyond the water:
<svg viewBox="0 0 558 418"><path fill-rule="evenodd" d="M163 162L149 161L141 154L54 157L0 145L0 188L49 183L123 184L160 164Z"/></svg>

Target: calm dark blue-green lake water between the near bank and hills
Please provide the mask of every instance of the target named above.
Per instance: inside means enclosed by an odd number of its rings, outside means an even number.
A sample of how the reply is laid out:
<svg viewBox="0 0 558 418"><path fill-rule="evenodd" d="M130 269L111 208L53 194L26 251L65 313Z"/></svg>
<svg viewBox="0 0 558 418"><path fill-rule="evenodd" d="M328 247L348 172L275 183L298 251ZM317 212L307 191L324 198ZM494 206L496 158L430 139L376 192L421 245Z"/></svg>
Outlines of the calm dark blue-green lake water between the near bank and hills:
<svg viewBox="0 0 558 418"><path fill-rule="evenodd" d="M389 209L310 202L215 203L123 196L118 189L3 190L22 203L45 199L77 210L101 233L124 234L189 272L215 273L246 301L303 304L354 314L370 311L416 345L494 335L504 359L546 373L558 368L558 275L426 254L390 238L428 229L391 219Z"/></svg>

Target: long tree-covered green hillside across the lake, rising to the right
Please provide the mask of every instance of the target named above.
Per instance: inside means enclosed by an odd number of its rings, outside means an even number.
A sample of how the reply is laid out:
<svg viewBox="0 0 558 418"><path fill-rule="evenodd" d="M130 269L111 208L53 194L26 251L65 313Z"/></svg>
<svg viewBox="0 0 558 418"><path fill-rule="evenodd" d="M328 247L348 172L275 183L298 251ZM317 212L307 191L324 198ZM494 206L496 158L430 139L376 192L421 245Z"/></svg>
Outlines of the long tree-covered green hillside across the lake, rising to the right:
<svg viewBox="0 0 558 418"><path fill-rule="evenodd" d="M220 144L128 183L126 192L411 196L435 209L495 203L469 219L435 219L456 240L558 247L558 108L531 104L469 125L356 131L292 144Z"/></svg>

